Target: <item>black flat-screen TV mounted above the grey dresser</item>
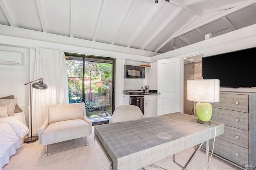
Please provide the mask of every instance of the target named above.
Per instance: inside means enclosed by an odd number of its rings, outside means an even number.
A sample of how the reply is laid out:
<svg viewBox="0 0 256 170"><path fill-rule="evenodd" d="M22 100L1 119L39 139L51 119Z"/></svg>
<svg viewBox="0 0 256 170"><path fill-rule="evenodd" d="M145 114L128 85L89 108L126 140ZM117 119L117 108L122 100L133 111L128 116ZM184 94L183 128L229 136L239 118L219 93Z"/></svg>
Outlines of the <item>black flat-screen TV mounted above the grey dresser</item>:
<svg viewBox="0 0 256 170"><path fill-rule="evenodd" d="M256 87L256 47L202 57L203 79L219 79L220 87Z"/></svg>

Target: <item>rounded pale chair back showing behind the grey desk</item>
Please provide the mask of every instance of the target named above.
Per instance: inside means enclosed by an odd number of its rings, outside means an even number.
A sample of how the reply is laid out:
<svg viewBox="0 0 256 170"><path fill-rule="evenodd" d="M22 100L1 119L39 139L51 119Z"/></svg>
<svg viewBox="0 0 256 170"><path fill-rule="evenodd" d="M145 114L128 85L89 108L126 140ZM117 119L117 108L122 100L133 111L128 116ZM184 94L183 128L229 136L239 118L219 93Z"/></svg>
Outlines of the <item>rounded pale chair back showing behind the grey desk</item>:
<svg viewBox="0 0 256 170"><path fill-rule="evenodd" d="M141 119L145 117L146 116L143 115L142 111L138 106L122 105L122 106L116 107L115 111L110 117L109 123Z"/></svg>

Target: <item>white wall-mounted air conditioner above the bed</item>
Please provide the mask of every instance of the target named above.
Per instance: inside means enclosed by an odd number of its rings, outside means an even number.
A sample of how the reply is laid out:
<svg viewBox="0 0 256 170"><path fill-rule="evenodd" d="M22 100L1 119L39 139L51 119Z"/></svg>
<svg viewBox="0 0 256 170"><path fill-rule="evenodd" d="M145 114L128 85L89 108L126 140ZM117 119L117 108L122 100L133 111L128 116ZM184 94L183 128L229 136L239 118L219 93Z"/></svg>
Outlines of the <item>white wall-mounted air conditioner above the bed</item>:
<svg viewBox="0 0 256 170"><path fill-rule="evenodd" d="M0 65L24 66L22 53L11 51L0 51Z"/></svg>

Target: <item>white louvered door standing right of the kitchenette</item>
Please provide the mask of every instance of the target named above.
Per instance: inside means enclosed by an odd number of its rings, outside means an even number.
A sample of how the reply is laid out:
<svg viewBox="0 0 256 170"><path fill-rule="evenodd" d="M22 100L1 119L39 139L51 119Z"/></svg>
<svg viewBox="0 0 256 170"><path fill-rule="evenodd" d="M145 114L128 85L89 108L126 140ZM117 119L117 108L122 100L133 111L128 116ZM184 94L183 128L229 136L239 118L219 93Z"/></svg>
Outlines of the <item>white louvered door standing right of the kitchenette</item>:
<svg viewBox="0 0 256 170"><path fill-rule="evenodd" d="M158 60L157 115L180 111L180 59Z"/></svg>

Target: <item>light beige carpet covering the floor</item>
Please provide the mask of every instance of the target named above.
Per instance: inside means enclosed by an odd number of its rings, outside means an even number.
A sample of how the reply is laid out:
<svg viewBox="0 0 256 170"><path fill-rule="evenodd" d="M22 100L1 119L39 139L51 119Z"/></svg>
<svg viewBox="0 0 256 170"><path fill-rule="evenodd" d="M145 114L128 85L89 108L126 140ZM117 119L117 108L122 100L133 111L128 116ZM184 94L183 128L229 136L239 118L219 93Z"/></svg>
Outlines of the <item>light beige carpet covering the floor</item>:
<svg viewBox="0 0 256 170"><path fill-rule="evenodd" d="M97 141L94 141L94 126L92 135L85 138L60 142L48 146L49 156L45 155L45 146L39 145L38 141L22 144L16 154L11 156L10 162L3 170L109 170L109 163L100 149ZM194 152L194 147L175 154L175 160L184 166ZM167 170L181 170L172 162L172 156L155 162L154 164ZM206 166L205 151L199 150L188 170L204 170ZM150 166L146 170L156 170ZM241 170L240 168L212 156L209 170Z"/></svg>

